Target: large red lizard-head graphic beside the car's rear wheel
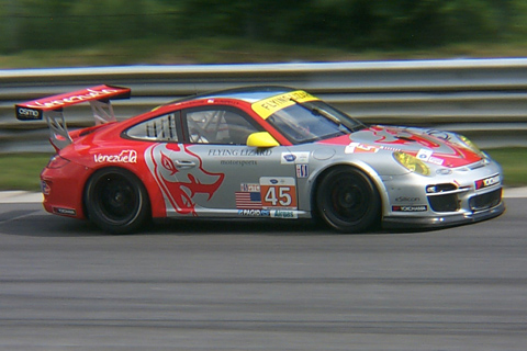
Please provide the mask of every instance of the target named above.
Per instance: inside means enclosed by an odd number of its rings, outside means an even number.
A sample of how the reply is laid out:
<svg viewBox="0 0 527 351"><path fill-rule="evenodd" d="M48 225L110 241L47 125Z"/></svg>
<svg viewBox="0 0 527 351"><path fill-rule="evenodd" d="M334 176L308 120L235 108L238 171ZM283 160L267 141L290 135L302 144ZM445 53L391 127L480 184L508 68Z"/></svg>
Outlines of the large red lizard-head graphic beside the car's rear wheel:
<svg viewBox="0 0 527 351"><path fill-rule="evenodd" d="M193 162L197 167L178 168L175 160ZM182 144L155 144L145 150L145 161L156 180L167 206L182 215L198 216L194 196L214 196L225 178L203 168L201 158Z"/></svg>

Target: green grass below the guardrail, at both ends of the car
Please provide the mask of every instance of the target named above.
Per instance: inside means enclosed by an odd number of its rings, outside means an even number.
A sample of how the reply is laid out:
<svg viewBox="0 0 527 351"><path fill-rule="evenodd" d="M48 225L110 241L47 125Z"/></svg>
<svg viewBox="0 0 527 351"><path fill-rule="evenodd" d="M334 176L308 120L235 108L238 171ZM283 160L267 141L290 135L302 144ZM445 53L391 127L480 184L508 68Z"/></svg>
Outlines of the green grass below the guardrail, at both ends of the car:
<svg viewBox="0 0 527 351"><path fill-rule="evenodd" d="M527 186L527 148L491 149L486 152L498 161L506 186ZM1 190L40 190L40 173L49 160L47 154L0 155Z"/></svg>

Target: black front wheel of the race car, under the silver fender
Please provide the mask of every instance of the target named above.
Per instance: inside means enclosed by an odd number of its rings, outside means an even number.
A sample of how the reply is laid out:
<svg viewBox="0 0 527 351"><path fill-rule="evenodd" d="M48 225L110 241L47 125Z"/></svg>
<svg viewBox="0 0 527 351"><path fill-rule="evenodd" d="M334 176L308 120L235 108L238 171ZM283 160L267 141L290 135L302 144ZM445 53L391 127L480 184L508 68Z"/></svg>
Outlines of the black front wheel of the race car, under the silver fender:
<svg viewBox="0 0 527 351"><path fill-rule="evenodd" d="M343 233L363 233L380 223L381 199L365 172L351 167L329 170L316 191L318 215Z"/></svg>

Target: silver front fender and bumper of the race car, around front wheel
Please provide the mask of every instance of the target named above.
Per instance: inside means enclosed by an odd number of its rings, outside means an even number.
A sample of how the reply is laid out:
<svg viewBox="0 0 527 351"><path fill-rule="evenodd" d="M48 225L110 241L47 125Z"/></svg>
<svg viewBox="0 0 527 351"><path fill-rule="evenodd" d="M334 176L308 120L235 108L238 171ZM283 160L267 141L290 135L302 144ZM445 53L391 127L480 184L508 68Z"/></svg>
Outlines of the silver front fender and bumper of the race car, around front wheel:
<svg viewBox="0 0 527 351"><path fill-rule="evenodd" d="M326 148L314 150L332 154ZM434 167L433 174L424 177L404 170L394 162L390 151L371 155L340 155L337 148L328 159L312 157L310 167L314 170L309 181L300 181L303 195L299 202L310 204L317 177L337 165L350 166L365 171L375 183L382 201L382 223L384 227L441 227L479 222L498 216L505 211L502 201L503 172L495 161L485 158L473 165L459 168ZM384 154L384 155L382 155ZM492 180L482 189L476 189L478 180ZM441 190L448 184L451 190ZM427 192L436 186L437 192Z"/></svg>

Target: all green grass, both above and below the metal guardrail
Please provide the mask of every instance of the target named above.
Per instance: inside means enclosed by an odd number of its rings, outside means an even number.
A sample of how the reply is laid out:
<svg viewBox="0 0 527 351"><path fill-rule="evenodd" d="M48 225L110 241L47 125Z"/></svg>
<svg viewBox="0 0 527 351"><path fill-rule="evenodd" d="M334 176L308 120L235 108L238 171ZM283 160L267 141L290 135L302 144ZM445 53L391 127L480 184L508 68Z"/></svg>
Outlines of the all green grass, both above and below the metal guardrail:
<svg viewBox="0 0 527 351"><path fill-rule="evenodd" d="M451 57L525 57L527 42L448 45L428 50L345 50L310 45L281 45L244 38L214 37L188 41L123 41L70 48L25 50L0 55L0 69L113 65L178 65L279 61L344 61L431 59ZM492 149L504 168L505 184L527 185L527 148ZM0 190L40 189L38 174L49 155L0 155Z"/></svg>

